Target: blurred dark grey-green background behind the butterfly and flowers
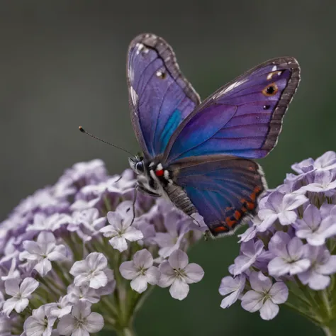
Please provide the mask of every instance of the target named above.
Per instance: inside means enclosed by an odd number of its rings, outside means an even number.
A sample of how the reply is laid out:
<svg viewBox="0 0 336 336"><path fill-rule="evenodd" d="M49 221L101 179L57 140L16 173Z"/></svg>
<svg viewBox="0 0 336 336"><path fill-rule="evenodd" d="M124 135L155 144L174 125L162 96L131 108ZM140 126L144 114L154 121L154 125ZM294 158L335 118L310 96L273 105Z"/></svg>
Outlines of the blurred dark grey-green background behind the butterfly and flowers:
<svg viewBox="0 0 336 336"><path fill-rule="evenodd" d="M128 112L125 54L139 33L162 35L205 98L271 57L294 56L302 82L279 144L262 160L269 186L293 162L335 150L335 1L0 1L0 216L54 183L75 162L103 159L109 172L138 152ZM156 289L136 319L139 335L322 335L286 308L262 321L239 303L222 310L218 286L237 237L190 252L206 275L184 301Z"/></svg>

